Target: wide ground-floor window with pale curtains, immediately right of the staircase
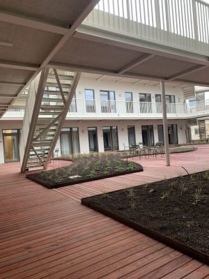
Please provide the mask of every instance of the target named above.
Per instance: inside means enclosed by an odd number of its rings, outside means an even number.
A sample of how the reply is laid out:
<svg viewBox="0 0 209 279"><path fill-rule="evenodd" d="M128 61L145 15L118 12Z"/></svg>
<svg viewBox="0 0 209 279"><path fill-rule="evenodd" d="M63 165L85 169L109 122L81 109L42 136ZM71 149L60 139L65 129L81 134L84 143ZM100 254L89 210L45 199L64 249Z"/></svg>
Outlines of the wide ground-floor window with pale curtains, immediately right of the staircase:
<svg viewBox="0 0 209 279"><path fill-rule="evenodd" d="M78 128L61 129L61 155L72 155L80 153Z"/></svg>

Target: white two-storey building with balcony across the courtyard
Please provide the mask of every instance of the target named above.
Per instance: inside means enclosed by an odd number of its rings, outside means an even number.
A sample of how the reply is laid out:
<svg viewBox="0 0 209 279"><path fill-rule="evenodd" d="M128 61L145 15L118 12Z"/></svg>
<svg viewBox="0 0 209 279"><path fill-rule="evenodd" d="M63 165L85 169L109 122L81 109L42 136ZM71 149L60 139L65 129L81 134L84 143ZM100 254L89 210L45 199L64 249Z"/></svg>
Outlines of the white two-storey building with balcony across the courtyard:
<svg viewBox="0 0 209 279"><path fill-rule="evenodd" d="M171 145L199 140L194 133L196 126L190 129L189 123L196 123L196 117L208 110L207 106L198 110L197 104L189 108L184 92L187 88L166 84ZM6 112L0 119L0 163L20 160L23 116L24 109L19 103L19 108ZM65 156L123 150L124 146L138 142L152 146L158 141L164 141L160 82L82 74L56 149Z"/></svg>

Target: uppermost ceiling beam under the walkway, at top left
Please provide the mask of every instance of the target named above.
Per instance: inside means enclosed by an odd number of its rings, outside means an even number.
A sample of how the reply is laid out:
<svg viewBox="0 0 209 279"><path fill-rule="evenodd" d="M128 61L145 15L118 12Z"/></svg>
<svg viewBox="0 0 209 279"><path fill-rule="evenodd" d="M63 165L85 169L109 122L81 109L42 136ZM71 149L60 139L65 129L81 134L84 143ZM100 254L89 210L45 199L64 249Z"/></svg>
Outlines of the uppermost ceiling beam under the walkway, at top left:
<svg viewBox="0 0 209 279"><path fill-rule="evenodd" d="M42 22L35 18L25 17L24 15L14 15L12 13L7 13L4 10L0 10L0 18L1 22L9 22L13 24L22 25L24 27L30 27L33 29L38 29L52 33L58 33L61 35L65 35L65 33L67 33L69 30L69 27L60 27L56 24Z"/></svg>

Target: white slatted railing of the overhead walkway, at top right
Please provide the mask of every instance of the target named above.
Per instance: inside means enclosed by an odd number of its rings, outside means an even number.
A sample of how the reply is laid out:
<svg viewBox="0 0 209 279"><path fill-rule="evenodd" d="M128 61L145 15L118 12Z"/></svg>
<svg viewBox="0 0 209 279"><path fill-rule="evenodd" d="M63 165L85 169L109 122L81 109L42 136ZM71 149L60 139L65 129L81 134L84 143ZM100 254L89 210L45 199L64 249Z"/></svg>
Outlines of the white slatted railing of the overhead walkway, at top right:
<svg viewBox="0 0 209 279"><path fill-rule="evenodd" d="M208 22L200 0L100 0L83 25L208 55Z"/></svg>

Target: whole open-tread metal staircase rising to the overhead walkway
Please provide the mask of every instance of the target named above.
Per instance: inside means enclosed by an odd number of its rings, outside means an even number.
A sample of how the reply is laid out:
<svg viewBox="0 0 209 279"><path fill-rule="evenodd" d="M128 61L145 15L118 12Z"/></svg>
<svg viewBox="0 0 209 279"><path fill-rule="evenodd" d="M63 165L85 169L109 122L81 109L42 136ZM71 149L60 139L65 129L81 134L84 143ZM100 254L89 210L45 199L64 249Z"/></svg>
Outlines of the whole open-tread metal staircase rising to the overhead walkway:
<svg viewBox="0 0 209 279"><path fill-rule="evenodd" d="M21 172L47 167L80 74L45 68L29 87L20 140Z"/></svg>

